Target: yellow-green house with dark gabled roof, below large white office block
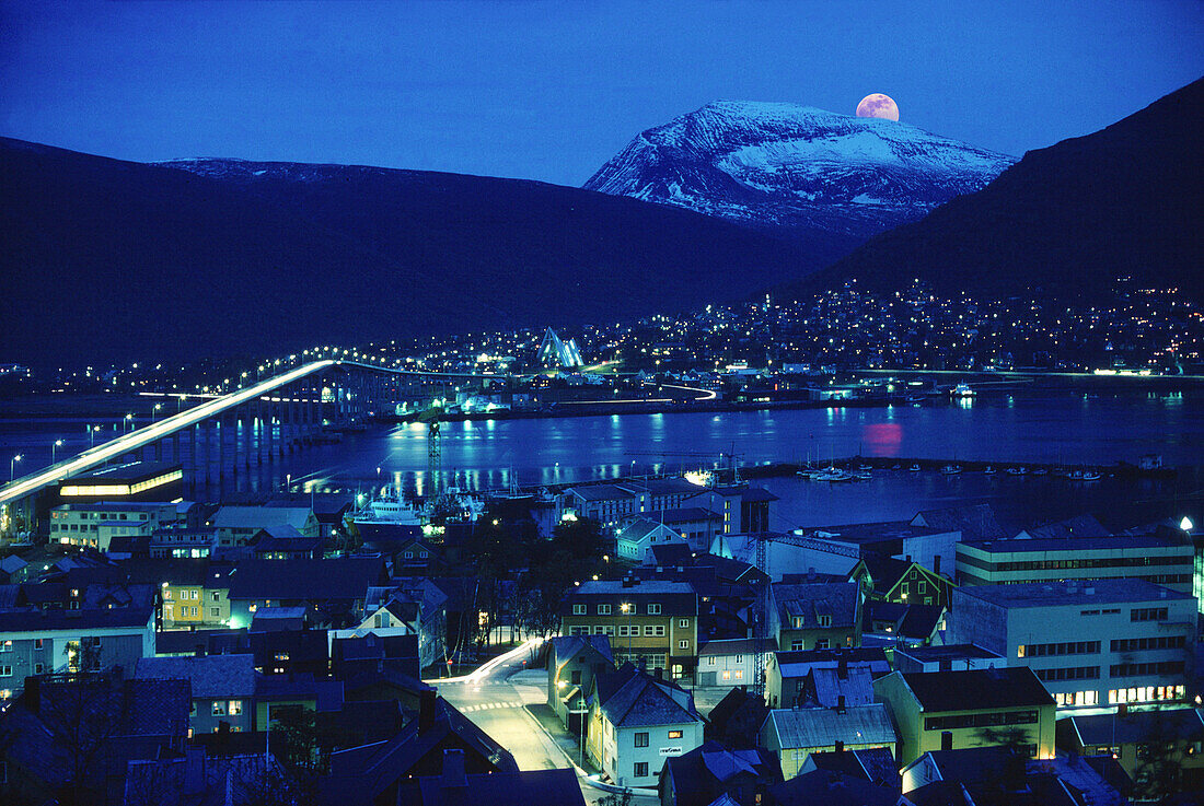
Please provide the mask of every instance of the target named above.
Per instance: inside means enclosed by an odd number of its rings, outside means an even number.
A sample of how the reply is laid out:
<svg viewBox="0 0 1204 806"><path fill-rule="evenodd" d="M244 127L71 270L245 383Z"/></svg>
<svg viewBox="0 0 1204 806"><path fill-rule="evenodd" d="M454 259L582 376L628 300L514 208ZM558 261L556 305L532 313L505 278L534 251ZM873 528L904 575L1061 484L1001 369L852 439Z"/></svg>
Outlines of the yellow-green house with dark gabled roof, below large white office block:
<svg viewBox="0 0 1204 806"><path fill-rule="evenodd" d="M896 671L874 681L874 694L898 725L902 764L933 749L1005 743L1054 755L1054 698L1029 669Z"/></svg>

